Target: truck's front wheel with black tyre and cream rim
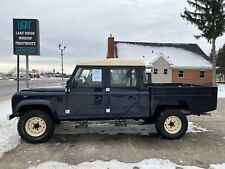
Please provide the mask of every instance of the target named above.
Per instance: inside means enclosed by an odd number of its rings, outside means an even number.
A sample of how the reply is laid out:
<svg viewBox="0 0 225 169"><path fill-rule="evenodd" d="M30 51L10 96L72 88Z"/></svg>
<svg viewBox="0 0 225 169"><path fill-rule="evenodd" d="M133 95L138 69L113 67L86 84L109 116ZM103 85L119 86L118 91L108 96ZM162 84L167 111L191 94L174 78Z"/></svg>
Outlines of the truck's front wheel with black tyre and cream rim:
<svg viewBox="0 0 225 169"><path fill-rule="evenodd" d="M29 143L47 141L53 134L55 122L42 110L31 110L24 113L17 125L19 135Z"/></svg>

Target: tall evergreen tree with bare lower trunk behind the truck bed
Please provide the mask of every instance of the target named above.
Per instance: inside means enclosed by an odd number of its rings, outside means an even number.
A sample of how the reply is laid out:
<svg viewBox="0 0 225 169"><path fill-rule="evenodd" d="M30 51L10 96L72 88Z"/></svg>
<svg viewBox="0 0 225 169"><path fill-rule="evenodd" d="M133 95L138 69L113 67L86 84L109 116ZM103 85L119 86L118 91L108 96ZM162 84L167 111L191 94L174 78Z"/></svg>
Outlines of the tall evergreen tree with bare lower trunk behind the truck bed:
<svg viewBox="0 0 225 169"><path fill-rule="evenodd" d="M225 32L224 0L187 0L193 11L185 8L181 17L198 27L197 39L204 37L212 44L213 86L216 86L216 39Z"/></svg>

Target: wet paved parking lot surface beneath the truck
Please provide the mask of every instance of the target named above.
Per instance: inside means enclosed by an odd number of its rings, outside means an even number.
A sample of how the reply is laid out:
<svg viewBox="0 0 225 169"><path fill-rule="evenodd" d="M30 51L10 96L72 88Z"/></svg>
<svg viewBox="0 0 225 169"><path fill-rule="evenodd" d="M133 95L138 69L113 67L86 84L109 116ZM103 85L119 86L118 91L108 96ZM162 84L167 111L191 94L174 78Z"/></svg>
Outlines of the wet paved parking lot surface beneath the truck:
<svg viewBox="0 0 225 169"><path fill-rule="evenodd" d="M62 123L46 143L34 145L21 141L20 146L0 158L0 168L24 169L45 161L78 164L111 159L139 162L161 158L203 168L225 162L225 99L218 100L217 111L212 116L192 116L189 121L209 131L187 133L179 140L164 140L153 125L140 121L131 121L128 127L91 123L88 128L78 129L73 123Z"/></svg>

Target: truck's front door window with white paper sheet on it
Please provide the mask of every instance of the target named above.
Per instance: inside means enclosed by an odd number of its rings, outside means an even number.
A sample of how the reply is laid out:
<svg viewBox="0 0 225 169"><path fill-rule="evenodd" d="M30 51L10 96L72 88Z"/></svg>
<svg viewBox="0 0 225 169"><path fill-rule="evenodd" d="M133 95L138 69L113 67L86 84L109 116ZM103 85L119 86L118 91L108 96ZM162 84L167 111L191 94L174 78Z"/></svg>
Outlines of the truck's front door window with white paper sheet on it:
<svg viewBox="0 0 225 169"><path fill-rule="evenodd" d="M101 87L102 69L79 68L74 81L76 87Z"/></svg>

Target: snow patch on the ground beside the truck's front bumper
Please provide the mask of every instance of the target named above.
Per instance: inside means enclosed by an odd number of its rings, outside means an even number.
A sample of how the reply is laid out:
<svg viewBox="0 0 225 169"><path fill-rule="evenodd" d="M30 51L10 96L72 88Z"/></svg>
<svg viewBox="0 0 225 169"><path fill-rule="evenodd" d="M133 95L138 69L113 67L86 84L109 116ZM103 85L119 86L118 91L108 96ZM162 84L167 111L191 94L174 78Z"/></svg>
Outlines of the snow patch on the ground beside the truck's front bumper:
<svg viewBox="0 0 225 169"><path fill-rule="evenodd" d="M8 152L20 144L20 137L17 134L17 119L7 120L11 114L10 100L0 102L0 158L4 152Z"/></svg>

